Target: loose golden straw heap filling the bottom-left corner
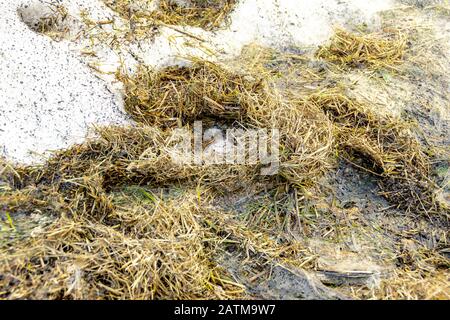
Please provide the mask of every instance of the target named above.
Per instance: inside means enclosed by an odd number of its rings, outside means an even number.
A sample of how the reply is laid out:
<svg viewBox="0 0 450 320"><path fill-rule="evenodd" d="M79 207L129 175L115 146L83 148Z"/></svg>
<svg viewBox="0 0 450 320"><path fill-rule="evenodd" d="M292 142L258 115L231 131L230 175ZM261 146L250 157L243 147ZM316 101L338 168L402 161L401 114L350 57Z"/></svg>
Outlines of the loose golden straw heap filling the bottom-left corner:
<svg viewBox="0 0 450 320"><path fill-rule="evenodd" d="M0 291L9 298L224 299L239 297L211 261L214 234L197 198L135 203L120 196L106 217L62 213L19 253L3 251ZM123 207L122 207L123 205ZM73 210L73 207L64 209ZM211 239L210 243L203 239ZM17 250L18 248L15 248Z"/></svg>

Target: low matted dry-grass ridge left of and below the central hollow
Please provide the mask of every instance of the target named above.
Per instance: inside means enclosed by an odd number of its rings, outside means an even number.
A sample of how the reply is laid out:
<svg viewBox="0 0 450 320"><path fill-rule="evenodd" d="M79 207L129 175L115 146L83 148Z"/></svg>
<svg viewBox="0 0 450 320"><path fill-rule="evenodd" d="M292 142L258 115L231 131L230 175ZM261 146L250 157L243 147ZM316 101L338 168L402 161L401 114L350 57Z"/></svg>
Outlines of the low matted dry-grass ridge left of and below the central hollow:
<svg viewBox="0 0 450 320"><path fill-rule="evenodd" d="M145 125L98 129L99 138L59 152L42 168L30 169L31 181L64 192L80 187L96 194L97 186L111 190L123 185L165 185L182 182L195 186L199 179L216 190L245 187L258 178L260 164L196 165L174 154L179 142L171 130Z"/></svg>

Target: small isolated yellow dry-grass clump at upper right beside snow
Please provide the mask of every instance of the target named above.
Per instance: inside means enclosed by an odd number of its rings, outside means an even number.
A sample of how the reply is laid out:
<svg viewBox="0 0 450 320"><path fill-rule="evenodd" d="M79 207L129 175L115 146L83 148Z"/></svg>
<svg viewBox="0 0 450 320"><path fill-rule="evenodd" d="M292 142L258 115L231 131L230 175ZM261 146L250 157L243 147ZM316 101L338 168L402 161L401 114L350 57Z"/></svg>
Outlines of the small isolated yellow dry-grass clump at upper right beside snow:
<svg viewBox="0 0 450 320"><path fill-rule="evenodd" d="M383 37L337 29L330 45L321 47L317 57L343 67L393 69L403 62L406 48L407 40L401 33Z"/></svg>

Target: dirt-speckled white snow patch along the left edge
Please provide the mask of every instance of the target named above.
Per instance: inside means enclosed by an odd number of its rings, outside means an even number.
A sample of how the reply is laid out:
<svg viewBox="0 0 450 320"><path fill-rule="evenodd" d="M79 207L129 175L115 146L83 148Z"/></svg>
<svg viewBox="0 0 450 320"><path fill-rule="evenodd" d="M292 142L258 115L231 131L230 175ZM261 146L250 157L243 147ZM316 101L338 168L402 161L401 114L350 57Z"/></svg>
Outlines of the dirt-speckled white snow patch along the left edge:
<svg viewBox="0 0 450 320"><path fill-rule="evenodd" d="M0 0L0 155L33 163L48 150L82 142L93 124L124 123L120 95L69 50L30 30Z"/></svg>

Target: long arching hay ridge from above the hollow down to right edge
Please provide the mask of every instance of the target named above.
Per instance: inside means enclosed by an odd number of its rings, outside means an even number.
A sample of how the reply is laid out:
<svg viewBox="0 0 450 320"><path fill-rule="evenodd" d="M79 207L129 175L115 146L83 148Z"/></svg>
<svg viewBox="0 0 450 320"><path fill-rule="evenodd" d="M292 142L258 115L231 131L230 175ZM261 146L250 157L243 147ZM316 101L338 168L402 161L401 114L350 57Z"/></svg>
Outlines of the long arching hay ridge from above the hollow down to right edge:
<svg viewBox="0 0 450 320"><path fill-rule="evenodd" d="M329 171L335 155L380 177L384 194L408 211L436 212L430 160L410 126L378 115L334 86L291 95L272 80L236 73L211 62L140 70L122 76L126 108L148 125L186 125L197 119L238 121L280 131L280 176L308 186Z"/></svg>

